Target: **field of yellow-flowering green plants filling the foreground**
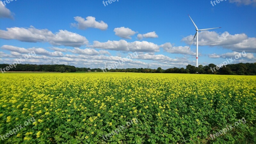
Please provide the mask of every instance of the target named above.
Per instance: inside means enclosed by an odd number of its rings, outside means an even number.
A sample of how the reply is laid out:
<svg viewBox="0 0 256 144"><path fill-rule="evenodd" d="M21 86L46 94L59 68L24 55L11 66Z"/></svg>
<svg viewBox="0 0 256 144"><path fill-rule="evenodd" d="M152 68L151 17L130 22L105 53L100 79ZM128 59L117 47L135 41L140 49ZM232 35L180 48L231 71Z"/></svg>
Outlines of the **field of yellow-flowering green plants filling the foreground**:
<svg viewBox="0 0 256 144"><path fill-rule="evenodd" d="M0 143L235 143L255 132L256 76L6 73L0 78ZM108 137L134 118L138 123ZM241 118L245 124L210 137Z"/></svg>

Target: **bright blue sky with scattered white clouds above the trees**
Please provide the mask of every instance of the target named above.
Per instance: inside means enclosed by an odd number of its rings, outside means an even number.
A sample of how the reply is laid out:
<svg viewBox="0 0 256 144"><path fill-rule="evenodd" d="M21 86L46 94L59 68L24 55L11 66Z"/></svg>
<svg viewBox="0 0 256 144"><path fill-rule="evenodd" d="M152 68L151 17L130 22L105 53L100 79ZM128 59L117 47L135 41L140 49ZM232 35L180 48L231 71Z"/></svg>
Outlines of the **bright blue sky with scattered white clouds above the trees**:
<svg viewBox="0 0 256 144"><path fill-rule="evenodd" d="M2 0L3 1L3 0ZM105 0L106 1L106 0ZM5 2L5 4L4 4ZM9 2L9 3L7 3ZM213 1L212 1L213 2ZM108 3L108 2L107 2ZM246 52L233 63L256 62L255 0L93 1L13 0L0 4L0 63L23 58L29 64L105 68L173 68L216 65ZM29 52L36 56L24 59ZM137 57L127 56L136 52ZM116 67L115 67L116 68Z"/></svg>

